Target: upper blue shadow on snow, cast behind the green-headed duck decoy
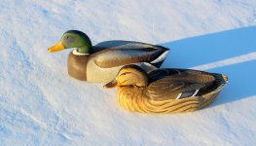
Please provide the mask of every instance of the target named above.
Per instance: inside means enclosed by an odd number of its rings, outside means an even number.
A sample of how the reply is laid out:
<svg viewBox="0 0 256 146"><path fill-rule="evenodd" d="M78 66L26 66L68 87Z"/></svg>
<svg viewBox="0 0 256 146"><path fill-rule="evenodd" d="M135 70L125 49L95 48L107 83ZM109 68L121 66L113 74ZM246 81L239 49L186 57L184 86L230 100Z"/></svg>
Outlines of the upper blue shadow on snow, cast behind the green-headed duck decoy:
<svg viewBox="0 0 256 146"><path fill-rule="evenodd" d="M190 68L256 51L256 26L181 39L161 45L170 49L164 67Z"/></svg>

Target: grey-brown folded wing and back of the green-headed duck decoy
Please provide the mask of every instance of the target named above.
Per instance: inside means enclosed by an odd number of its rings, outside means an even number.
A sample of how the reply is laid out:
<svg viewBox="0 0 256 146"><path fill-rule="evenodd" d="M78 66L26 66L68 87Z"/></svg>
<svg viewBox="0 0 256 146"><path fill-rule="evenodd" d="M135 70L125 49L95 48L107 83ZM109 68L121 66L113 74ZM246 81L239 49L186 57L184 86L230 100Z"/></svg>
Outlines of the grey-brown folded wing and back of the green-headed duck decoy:
<svg viewBox="0 0 256 146"><path fill-rule="evenodd" d="M137 62L153 62L154 65L154 61L157 59L163 61L165 59L163 55L168 51L164 47L128 41L110 46L107 50L93 54L97 66L109 68Z"/></svg>

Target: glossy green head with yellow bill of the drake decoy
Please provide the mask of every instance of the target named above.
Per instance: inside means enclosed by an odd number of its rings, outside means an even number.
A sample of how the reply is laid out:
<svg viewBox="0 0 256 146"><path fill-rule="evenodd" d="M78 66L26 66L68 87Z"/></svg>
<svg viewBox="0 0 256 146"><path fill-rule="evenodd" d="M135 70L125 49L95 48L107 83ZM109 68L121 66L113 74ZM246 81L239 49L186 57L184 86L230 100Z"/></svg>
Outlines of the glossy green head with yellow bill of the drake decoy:
<svg viewBox="0 0 256 146"><path fill-rule="evenodd" d="M49 53L62 51L64 49L77 48L78 53L90 54L91 53L91 40L82 31L68 30L66 31L60 41L55 46L48 49Z"/></svg>

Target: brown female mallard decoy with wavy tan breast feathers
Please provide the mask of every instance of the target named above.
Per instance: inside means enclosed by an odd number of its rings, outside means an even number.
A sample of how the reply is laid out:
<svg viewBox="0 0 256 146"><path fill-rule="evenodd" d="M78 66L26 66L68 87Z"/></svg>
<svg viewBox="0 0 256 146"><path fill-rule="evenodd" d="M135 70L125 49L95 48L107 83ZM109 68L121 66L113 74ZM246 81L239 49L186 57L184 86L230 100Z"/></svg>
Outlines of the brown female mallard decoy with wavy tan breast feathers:
<svg viewBox="0 0 256 146"><path fill-rule="evenodd" d="M136 65L121 68L105 88L118 87L118 103L140 113L191 112L207 106L228 78L191 69L158 69L147 74Z"/></svg>

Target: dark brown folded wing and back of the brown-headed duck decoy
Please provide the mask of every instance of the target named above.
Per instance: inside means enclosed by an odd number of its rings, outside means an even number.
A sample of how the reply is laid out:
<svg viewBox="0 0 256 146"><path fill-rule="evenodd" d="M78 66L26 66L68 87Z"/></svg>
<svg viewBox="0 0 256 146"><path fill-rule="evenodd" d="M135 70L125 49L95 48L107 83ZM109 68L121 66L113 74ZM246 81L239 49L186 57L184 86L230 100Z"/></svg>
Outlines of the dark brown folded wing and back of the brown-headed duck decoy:
<svg viewBox="0 0 256 146"><path fill-rule="evenodd" d="M196 96L208 91L215 81L210 74L186 69L161 69L153 71L150 77L155 82L148 86L146 94L156 101Z"/></svg>

